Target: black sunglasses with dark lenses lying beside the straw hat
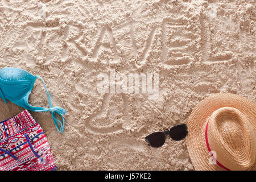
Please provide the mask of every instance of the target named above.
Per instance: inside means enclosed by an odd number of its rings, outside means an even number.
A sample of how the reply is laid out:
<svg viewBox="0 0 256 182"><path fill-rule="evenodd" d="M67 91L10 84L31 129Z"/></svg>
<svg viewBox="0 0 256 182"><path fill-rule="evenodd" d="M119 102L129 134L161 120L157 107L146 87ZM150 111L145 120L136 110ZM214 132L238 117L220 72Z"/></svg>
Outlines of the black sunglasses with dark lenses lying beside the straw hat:
<svg viewBox="0 0 256 182"><path fill-rule="evenodd" d="M152 133L148 135L145 138L145 140L149 146L158 148L163 146L163 144L166 142L167 134L176 141L183 140L187 136L187 133L188 133L187 129L188 129L187 125L185 124L177 125L177 126L171 127L170 130Z"/></svg>

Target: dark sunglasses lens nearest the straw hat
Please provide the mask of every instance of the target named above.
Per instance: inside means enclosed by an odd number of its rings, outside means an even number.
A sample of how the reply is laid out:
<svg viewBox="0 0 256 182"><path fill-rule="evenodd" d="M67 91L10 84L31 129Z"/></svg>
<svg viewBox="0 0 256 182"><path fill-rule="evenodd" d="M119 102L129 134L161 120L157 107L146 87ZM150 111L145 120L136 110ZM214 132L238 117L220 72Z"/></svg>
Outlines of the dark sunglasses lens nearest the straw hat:
<svg viewBox="0 0 256 182"><path fill-rule="evenodd" d="M169 135L172 139L179 141L187 135L187 125L177 125L170 129Z"/></svg>

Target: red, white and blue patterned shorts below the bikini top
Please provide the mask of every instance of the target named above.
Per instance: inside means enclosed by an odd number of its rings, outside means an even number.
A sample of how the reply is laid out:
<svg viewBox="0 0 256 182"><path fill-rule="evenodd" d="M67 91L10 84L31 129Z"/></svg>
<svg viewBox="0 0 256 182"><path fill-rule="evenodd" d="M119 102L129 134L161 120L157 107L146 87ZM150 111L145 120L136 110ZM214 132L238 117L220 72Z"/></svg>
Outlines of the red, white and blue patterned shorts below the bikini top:
<svg viewBox="0 0 256 182"><path fill-rule="evenodd" d="M0 122L0 170L55 169L46 135L27 110Z"/></svg>

